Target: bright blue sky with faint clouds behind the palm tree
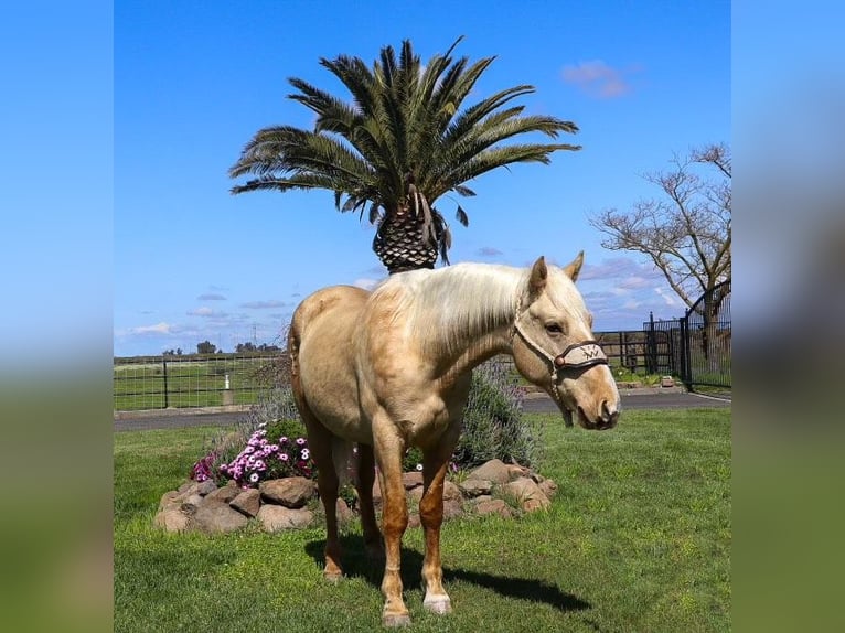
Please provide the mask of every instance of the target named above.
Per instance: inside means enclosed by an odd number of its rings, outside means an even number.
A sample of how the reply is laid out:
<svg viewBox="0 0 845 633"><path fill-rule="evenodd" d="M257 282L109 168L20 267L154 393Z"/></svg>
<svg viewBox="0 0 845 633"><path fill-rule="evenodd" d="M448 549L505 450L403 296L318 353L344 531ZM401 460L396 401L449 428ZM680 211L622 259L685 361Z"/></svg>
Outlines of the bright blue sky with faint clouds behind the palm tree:
<svg viewBox="0 0 845 633"><path fill-rule="evenodd" d="M248 7L248 9L247 9ZM389 10L385 10L389 7ZM494 8L493 8L494 7ZM730 142L730 6L708 2L142 2L114 8L114 353L276 341L296 304L385 276L372 227L331 193L232 196L227 169L261 127L308 127L290 76L344 95L320 57L374 60L410 39L424 60L495 55L474 103L523 83L527 114L580 132L550 165L471 183L452 222L457 261L566 264L596 330L683 313L639 256L605 250L587 221L657 192L641 176L673 153ZM438 207L448 219L454 201Z"/></svg>

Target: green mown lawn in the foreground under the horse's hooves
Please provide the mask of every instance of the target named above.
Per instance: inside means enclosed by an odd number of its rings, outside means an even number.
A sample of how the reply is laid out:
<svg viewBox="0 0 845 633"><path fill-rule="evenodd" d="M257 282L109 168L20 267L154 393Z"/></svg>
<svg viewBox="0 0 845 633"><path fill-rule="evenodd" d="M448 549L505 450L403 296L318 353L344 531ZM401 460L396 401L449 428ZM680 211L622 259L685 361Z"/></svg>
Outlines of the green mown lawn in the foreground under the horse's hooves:
<svg viewBox="0 0 845 633"><path fill-rule="evenodd" d="M422 610L422 538L403 541L414 631L729 631L730 411L625 412L606 432L545 427L552 508L443 526L454 612ZM220 429L115 436L115 631L375 631L381 569L360 528L347 578L322 581L323 530L168 535L152 527Z"/></svg>

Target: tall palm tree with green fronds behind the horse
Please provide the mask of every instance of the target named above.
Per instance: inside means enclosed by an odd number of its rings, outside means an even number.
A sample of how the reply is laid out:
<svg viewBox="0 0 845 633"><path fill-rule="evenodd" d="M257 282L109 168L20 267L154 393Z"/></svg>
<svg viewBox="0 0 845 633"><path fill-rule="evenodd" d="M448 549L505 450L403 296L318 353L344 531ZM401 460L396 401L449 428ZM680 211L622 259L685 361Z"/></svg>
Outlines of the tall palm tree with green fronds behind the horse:
<svg viewBox="0 0 845 633"><path fill-rule="evenodd" d="M388 272L448 264L449 227L435 207L447 193L472 196L464 183L517 162L547 164L565 143L511 142L528 132L557 138L578 131L575 124L548 116L523 116L512 105L533 86L506 88L469 107L464 99L494 57L470 64L452 60L459 37L445 55L426 65L410 41L399 58L382 49L370 68L361 58L321 58L349 89L344 101L311 84L290 78L289 95L317 114L313 130L274 126L258 130L229 170L232 178L254 175L233 193L258 190L324 189L339 211L366 212L376 225L373 250ZM458 221L467 226L463 208Z"/></svg>

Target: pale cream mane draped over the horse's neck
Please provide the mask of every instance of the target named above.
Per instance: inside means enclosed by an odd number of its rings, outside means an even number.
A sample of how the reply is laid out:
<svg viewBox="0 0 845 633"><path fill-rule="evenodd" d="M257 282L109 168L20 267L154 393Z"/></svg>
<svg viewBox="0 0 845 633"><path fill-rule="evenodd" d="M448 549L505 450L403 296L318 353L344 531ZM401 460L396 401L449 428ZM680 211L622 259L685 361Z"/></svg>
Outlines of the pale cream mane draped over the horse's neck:
<svg viewBox="0 0 845 633"><path fill-rule="evenodd" d="M527 278L524 268L457 264L394 275L372 300L396 297L394 320L404 319L428 351L450 355L478 334L510 323Z"/></svg>

